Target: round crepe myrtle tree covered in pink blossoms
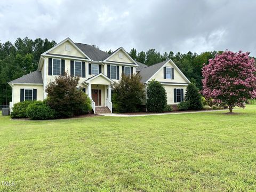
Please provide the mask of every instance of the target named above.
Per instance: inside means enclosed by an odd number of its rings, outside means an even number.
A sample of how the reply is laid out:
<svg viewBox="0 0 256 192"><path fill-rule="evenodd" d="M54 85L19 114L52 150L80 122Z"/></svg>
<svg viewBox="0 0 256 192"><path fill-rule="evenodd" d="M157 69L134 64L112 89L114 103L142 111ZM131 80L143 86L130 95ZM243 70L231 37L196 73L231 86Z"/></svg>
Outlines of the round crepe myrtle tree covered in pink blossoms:
<svg viewBox="0 0 256 192"><path fill-rule="evenodd" d="M256 68L249 52L225 51L209 60L202 69L203 95L215 103L228 106L229 112L235 106L245 107L247 99L256 98Z"/></svg>

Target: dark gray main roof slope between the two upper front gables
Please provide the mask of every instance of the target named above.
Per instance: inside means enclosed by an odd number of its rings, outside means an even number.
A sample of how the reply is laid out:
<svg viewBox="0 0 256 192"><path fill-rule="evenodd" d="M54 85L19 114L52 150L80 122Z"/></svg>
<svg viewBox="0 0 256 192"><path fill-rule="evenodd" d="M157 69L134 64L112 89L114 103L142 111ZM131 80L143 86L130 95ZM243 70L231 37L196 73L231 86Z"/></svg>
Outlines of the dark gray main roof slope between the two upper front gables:
<svg viewBox="0 0 256 192"><path fill-rule="evenodd" d="M93 61L103 61L109 57L110 54L97 49L91 45L83 43L75 43L90 59Z"/></svg>

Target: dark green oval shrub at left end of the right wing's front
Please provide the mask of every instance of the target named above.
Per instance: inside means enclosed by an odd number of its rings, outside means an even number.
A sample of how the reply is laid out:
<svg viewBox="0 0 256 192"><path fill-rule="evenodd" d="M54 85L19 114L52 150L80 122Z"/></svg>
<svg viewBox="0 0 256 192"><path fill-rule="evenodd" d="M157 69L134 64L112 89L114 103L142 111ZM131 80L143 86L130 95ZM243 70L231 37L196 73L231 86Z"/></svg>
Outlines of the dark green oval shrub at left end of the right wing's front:
<svg viewBox="0 0 256 192"><path fill-rule="evenodd" d="M153 79L147 86L147 110L161 113L167 106L167 95L164 86Z"/></svg>

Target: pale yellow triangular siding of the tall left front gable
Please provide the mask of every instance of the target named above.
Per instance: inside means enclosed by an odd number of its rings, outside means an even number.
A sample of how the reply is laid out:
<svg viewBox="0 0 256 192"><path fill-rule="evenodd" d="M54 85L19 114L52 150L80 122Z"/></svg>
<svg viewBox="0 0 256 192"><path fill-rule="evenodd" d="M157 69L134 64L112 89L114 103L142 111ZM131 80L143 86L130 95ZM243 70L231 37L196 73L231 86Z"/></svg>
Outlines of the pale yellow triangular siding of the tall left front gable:
<svg viewBox="0 0 256 192"><path fill-rule="evenodd" d="M70 51L66 51L66 45L68 45L70 47ZM65 43L62 43L61 45L59 45L58 47L56 47L49 53L85 58L85 56L80 51L78 51L77 48L75 46L73 46L71 43L69 43L68 41Z"/></svg>

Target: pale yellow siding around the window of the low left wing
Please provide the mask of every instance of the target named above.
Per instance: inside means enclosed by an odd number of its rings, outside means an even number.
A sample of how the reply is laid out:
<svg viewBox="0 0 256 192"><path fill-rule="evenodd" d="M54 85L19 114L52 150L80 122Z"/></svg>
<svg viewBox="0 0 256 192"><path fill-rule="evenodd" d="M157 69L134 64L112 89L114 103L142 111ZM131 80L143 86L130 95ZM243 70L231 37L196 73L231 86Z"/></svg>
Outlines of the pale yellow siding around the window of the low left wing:
<svg viewBox="0 0 256 192"><path fill-rule="evenodd" d="M37 100L43 100L43 85L13 85L13 104L20 102L20 89L37 89Z"/></svg>

